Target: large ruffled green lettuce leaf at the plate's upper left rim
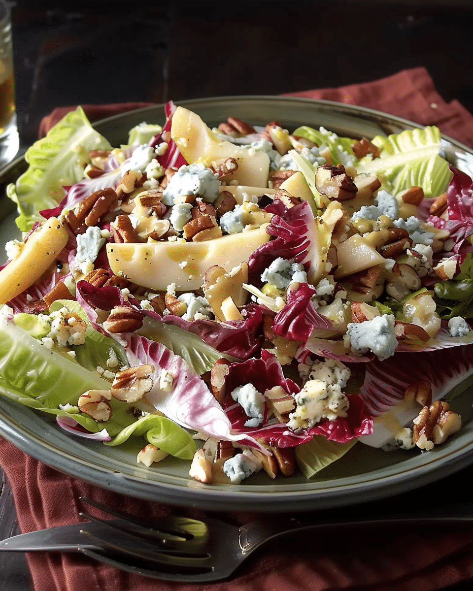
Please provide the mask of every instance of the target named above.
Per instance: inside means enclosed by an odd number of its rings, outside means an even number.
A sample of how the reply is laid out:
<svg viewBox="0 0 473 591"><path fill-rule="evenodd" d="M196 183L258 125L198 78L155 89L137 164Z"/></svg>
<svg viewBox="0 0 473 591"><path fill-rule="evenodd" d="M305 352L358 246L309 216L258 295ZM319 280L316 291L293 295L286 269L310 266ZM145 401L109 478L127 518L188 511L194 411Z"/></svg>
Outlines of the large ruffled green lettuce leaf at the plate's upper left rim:
<svg viewBox="0 0 473 591"><path fill-rule="evenodd" d="M28 170L7 187L8 197L18 206L17 225L27 232L40 210L56 207L64 186L79 182L89 163L89 150L111 150L109 142L90 125L82 107L67 113L38 139L25 154Z"/></svg>

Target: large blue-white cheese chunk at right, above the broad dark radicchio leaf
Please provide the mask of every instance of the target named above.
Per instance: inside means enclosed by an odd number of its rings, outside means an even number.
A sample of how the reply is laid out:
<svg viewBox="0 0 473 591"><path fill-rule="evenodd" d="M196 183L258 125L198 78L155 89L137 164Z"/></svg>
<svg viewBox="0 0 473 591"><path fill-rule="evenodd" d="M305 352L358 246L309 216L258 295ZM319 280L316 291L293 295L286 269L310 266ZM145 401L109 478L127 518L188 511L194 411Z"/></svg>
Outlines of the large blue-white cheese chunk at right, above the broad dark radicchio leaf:
<svg viewBox="0 0 473 591"><path fill-rule="evenodd" d="M375 316L365 322L351 322L347 329L345 339L355 355L361 356L372 351L381 361L394 355L397 339L394 335L393 314Z"/></svg>

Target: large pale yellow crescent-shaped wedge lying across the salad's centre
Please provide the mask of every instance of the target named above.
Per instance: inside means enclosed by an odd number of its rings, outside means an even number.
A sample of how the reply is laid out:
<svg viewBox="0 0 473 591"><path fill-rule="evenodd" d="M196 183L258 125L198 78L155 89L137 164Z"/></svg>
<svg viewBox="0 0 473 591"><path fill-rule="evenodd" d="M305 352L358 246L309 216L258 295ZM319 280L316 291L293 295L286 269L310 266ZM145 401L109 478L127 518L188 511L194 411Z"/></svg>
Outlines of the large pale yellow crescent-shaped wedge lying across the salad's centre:
<svg viewBox="0 0 473 591"><path fill-rule="evenodd" d="M155 291L199 289L205 272L218 265L231 271L248 262L258 246L270 239L266 226L203 242L109 243L108 262L115 275Z"/></svg>

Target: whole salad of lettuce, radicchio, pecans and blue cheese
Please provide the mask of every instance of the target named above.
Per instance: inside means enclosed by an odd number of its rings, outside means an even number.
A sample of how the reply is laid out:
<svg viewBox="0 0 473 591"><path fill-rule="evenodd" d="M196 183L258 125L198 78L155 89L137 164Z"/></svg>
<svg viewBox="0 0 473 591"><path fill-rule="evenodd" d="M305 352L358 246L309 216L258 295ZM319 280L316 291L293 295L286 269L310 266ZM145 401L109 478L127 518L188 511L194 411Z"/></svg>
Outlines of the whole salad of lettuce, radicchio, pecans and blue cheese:
<svg viewBox="0 0 473 591"><path fill-rule="evenodd" d="M439 129L210 129L165 110L114 147L79 107L27 151L7 189L22 239L0 269L1 394L203 483L455 436L473 183Z"/></svg>

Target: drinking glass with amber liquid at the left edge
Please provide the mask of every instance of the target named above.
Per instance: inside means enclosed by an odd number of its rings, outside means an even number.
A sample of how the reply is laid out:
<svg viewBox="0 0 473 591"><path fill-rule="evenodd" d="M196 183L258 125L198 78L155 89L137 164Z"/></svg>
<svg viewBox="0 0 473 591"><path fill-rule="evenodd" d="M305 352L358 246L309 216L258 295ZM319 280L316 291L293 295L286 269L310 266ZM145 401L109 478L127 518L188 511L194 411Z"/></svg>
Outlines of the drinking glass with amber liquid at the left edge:
<svg viewBox="0 0 473 591"><path fill-rule="evenodd" d="M0 168L18 152L10 9L0 0Z"/></svg>

